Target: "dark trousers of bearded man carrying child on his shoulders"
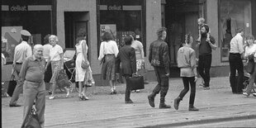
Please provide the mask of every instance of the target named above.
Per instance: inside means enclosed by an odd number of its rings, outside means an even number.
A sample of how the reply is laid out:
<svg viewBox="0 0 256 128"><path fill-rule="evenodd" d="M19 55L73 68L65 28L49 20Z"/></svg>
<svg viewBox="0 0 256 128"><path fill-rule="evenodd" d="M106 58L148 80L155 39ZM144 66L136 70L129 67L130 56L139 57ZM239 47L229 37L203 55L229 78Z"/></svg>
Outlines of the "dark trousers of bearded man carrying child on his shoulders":
<svg viewBox="0 0 256 128"><path fill-rule="evenodd" d="M210 85L211 55L199 55L198 72L205 82L205 87Z"/></svg>

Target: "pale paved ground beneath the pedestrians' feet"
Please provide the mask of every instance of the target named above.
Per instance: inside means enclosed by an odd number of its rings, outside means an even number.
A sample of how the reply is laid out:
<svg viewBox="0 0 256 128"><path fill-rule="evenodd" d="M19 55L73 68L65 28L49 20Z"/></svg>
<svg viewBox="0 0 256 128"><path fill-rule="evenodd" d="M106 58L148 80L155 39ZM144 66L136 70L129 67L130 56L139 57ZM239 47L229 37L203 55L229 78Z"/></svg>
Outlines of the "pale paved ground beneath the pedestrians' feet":
<svg viewBox="0 0 256 128"><path fill-rule="evenodd" d="M147 96L156 82L146 84L140 92L132 92L133 104L125 104L124 83L117 85L116 95L109 95L109 87L91 87L88 101L79 101L78 92L72 92L68 98L59 92L54 100L46 96L45 127L255 127L256 97L233 94L227 77L211 78L210 90L199 87L200 82L195 100L199 111L188 111L190 92L180 102L178 111L173 108L174 98L183 89L181 78L169 80L166 103L172 106L170 109L159 109L159 95L155 97L156 107L149 106ZM20 127L23 107L8 107L9 101L10 97L2 97L2 128ZM18 103L23 103L22 94ZM236 121L241 123L225 123Z"/></svg>

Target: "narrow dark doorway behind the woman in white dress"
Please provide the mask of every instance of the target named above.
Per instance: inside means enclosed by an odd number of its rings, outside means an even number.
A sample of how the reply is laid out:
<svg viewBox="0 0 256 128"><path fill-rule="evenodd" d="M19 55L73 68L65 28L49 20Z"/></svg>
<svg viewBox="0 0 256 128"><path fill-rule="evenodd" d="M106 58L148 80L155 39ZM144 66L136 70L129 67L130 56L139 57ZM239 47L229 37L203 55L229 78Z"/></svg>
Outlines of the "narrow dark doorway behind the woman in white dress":
<svg viewBox="0 0 256 128"><path fill-rule="evenodd" d="M74 48L80 28L85 28L88 34L89 12L64 12L65 47ZM88 42L88 36L86 38Z"/></svg>

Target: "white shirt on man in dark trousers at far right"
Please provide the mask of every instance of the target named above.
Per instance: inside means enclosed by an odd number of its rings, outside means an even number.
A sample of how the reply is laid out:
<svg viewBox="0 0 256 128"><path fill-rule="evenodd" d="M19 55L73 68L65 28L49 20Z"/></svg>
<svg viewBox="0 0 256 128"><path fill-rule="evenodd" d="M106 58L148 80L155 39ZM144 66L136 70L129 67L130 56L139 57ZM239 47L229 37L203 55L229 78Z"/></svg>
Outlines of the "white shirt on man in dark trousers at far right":
<svg viewBox="0 0 256 128"><path fill-rule="evenodd" d="M238 33L230 40L230 53L242 54L243 52L243 37Z"/></svg>

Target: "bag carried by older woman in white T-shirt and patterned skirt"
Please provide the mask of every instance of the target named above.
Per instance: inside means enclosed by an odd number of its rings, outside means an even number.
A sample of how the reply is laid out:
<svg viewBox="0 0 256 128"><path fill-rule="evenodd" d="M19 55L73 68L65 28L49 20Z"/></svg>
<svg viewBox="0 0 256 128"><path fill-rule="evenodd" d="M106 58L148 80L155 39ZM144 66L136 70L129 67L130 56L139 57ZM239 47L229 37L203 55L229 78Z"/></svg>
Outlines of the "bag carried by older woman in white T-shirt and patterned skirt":
<svg viewBox="0 0 256 128"><path fill-rule="evenodd" d="M56 78L56 83L58 84L59 88L70 88L69 77L65 69L59 70L59 75Z"/></svg>

